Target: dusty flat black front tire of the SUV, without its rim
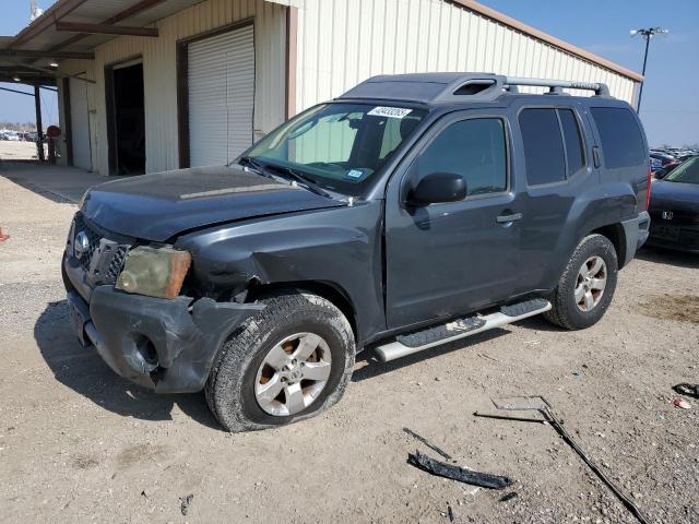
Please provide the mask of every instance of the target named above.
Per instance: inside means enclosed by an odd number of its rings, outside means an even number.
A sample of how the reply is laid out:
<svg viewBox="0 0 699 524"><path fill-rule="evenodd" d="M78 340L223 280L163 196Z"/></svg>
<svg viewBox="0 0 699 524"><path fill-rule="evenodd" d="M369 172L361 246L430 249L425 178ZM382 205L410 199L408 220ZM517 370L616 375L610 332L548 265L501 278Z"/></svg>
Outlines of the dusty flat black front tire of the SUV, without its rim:
<svg viewBox="0 0 699 524"><path fill-rule="evenodd" d="M209 376L206 403L228 431L266 429L312 417L336 404L350 382L355 338L344 314L332 302L303 290L275 293L259 300L265 308L223 344ZM258 369L279 341L299 332L320 335L332 357L323 390L304 410L271 415L256 397Z"/></svg>

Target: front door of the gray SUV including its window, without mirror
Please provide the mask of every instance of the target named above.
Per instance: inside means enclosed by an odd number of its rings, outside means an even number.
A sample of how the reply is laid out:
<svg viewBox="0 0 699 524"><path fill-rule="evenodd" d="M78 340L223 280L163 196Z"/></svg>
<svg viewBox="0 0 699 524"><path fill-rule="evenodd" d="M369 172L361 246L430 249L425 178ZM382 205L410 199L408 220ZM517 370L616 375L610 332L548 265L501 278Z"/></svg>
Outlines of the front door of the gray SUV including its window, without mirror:
<svg viewBox="0 0 699 524"><path fill-rule="evenodd" d="M520 276L519 199L510 176L503 115L452 114L433 128L387 191L389 329L478 310L508 297ZM454 172L463 201L411 206L405 195L423 177Z"/></svg>

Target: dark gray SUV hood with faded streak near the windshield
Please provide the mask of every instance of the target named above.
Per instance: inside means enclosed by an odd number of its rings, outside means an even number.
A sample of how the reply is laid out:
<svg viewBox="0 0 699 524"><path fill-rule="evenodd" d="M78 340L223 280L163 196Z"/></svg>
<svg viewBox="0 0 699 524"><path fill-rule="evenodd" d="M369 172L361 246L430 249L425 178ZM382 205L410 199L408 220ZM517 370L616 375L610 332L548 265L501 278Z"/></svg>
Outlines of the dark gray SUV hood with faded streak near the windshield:
<svg viewBox="0 0 699 524"><path fill-rule="evenodd" d="M96 186L82 211L110 231L163 242L187 229L343 205L342 201L251 171L215 166Z"/></svg>

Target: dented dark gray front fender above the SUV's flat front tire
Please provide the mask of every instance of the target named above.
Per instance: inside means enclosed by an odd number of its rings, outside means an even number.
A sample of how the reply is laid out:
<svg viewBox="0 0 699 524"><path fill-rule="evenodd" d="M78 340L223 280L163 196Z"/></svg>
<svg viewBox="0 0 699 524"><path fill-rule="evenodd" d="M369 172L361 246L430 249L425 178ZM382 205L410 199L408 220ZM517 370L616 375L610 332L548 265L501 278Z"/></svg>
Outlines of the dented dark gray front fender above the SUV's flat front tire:
<svg viewBox="0 0 699 524"><path fill-rule="evenodd" d="M179 238L192 284L210 294L263 285L328 283L355 309L358 338L386 330L382 202L227 224Z"/></svg>

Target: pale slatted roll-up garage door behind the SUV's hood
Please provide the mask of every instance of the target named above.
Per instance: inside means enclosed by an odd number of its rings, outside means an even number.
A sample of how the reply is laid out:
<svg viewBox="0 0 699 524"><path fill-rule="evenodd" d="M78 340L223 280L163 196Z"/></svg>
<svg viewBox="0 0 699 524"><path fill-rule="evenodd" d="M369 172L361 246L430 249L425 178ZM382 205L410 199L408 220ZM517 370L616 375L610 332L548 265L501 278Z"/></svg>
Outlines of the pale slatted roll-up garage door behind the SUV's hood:
<svg viewBox="0 0 699 524"><path fill-rule="evenodd" d="M190 166L222 165L252 144L253 26L188 46Z"/></svg>

